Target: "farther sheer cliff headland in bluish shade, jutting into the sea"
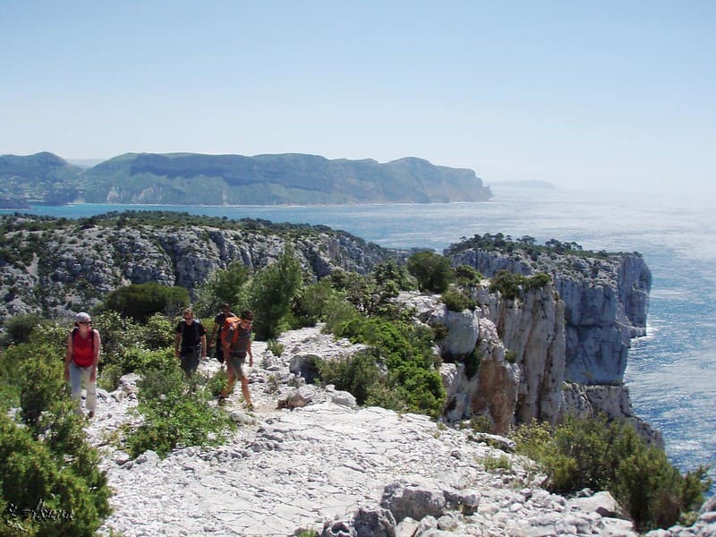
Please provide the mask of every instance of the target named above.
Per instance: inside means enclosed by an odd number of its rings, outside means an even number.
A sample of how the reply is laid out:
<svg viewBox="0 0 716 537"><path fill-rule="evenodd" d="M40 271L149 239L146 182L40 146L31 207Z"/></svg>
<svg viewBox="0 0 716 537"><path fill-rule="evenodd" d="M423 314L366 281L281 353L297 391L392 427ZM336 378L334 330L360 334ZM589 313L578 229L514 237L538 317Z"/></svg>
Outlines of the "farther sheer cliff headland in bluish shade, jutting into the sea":
<svg viewBox="0 0 716 537"><path fill-rule="evenodd" d="M565 378L580 384L623 381L630 338L646 330L652 275L640 255L541 252L529 257L468 249L451 259L487 277L502 269L523 276L549 274L564 303Z"/></svg>

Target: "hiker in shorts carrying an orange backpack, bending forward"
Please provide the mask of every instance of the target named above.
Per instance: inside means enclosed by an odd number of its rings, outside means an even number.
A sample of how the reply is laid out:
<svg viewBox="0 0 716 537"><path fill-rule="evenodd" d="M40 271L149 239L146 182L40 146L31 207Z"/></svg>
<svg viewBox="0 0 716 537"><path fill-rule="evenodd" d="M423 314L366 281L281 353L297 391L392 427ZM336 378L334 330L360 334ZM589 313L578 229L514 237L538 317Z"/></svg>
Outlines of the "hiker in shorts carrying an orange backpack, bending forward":
<svg viewBox="0 0 716 537"><path fill-rule="evenodd" d="M218 397L219 405L223 405L226 397L234 391L236 379L241 380L241 391L243 399L246 401L246 407L251 410L251 395L249 394L249 379L243 374L243 362L246 361L246 354L249 355L249 367L253 366L253 354L251 353L251 323L253 321L253 311L244 310L240 315L240 320L235 324L224 328L222 345L224 347L224 361L226 362L226 371L228 372L228 380L226 388L221 390Z"/></svg>

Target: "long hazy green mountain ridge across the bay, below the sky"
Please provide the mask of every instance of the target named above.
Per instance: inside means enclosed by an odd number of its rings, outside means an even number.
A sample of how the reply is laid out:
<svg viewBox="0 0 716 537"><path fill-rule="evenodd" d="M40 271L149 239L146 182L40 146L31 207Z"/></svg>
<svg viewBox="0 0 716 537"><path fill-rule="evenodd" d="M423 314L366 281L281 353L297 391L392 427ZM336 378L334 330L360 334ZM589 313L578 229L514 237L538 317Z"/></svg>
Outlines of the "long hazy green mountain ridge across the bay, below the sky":
<svg viewBox="0 0 716 537"><path fill-rule="evenodd" d="M0 200L178 205L432 203L490 200L472 169L415 157L387 163L303 153L125 153L89 168L48 152L0 156Z"/></svg>

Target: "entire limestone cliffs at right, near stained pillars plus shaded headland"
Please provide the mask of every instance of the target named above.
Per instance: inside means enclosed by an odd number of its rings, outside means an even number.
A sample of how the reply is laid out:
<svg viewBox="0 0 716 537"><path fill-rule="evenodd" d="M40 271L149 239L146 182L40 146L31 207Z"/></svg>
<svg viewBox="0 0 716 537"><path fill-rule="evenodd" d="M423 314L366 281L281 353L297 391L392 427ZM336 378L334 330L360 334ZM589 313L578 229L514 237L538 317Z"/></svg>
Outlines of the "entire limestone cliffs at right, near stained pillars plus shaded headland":
<svg viewBox="0 0 716 537"><path fill-rule="evenodd" d="M474 311L448 311L438 296L407 296L422 322L443 326L446 417L487 415L495 430L533 418L557 422L566 413L606 413L633 422L645 439L661 434L635 416L621 385L629 337L644 335L651 274L634 254L543 256L463 251L455 265L483 274L548 272L553 283L506 299L483 282Z"/></svg>

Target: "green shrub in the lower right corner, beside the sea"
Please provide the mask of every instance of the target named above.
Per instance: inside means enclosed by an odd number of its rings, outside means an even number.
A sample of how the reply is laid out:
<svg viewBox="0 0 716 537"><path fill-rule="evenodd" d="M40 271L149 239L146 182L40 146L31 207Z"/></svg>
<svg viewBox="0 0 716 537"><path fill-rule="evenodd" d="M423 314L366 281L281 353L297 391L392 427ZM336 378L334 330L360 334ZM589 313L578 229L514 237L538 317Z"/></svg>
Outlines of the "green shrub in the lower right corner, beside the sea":
<svg viewBox="0 0 716 537"><path fill-rule="evenodd" d="M649 447L628 424L606 418L567 420L550 430L533 422L516 430L517 452L537 461L550 490L609 490L645 532L678 522L703 502L711 482L706 469L681 475L666 454Z"/></svg>

